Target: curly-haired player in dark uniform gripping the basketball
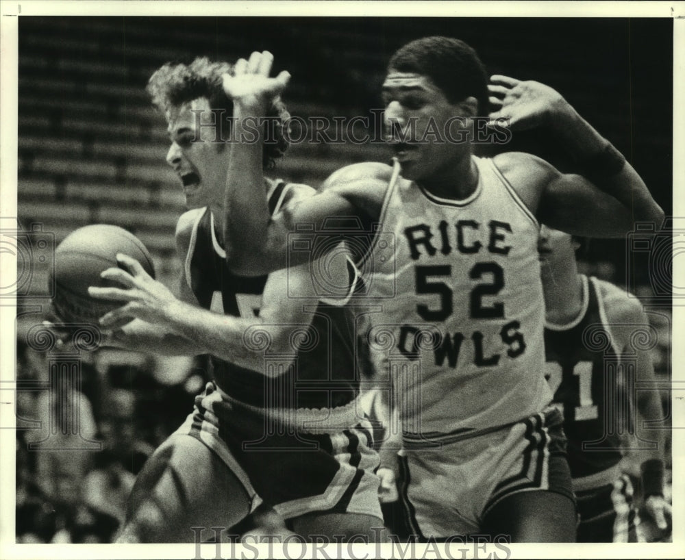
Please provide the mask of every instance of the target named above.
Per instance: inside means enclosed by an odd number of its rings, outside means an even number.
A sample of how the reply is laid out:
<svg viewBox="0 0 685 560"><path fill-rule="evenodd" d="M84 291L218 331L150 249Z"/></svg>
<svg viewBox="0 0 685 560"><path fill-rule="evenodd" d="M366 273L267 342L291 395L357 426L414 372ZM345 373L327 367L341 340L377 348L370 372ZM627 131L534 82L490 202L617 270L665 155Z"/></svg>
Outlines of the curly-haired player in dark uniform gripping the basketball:
<svg viewBox="0 0 685 560"><path fill-rule="evenodd" d="M252 278L227 266L223 191L231 148L216 141L223 137L216 127L231 107L221 79L234 71L247 68L206 59L166 64L148 86L169 123L166 161L190 208L176 231L179 297L127 255L118 255L122 268L103 272L121 287L90 289L122 302L101 318L111 344L212 357L214 381L140 472L119 542L212 539L209 528L229 528L262 503L301 535L373 537L371 527L382 527L378 459L358 413L345 298L325 301L308 266ZM279 101L269 114L287 116ZM277 133L264 166L284 149ZM262 189L272 211L312 194L282 181L263 181ZM347 284L347 262L327 266ZM199 527L206 528L201 535Z"/></svg>

